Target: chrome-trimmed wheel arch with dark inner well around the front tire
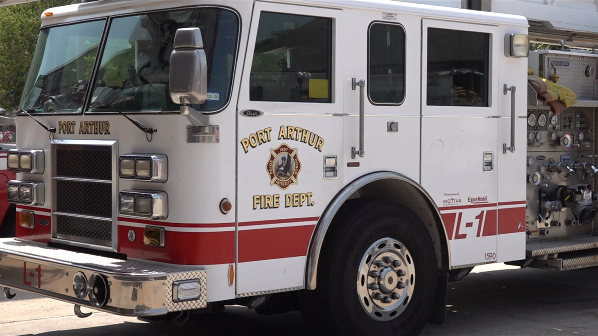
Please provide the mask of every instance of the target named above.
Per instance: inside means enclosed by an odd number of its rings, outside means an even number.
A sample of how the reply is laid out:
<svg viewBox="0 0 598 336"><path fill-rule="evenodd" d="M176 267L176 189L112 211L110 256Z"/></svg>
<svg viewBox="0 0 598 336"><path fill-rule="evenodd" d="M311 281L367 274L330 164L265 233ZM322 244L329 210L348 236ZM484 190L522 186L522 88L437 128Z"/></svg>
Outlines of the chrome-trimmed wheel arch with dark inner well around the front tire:
<svg viewBox="0 0 598 336"><path fill-rule="evenodd" d="M440 211L432 198L417 182L404 175L393 172L378 172L362 176L362 178L347 185L338 193L320 218L307 255L307 289L316 288L319 253L332 219L347 200L355 198L390 200L413 211L426 225L432 237L438 269L449 269L449 242Z"/></svg>

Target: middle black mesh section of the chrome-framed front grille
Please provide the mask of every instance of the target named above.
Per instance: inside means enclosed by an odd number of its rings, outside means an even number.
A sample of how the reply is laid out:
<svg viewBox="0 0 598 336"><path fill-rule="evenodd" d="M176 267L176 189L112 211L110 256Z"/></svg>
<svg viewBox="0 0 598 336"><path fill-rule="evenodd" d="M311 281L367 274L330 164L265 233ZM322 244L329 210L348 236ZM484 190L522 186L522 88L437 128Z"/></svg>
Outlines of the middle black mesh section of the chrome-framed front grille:
<svg viewBox="0 0 598 336"><path fill-rule="evenodd" d="M56 181L56 211L112 217L112 185Z"/></svg>

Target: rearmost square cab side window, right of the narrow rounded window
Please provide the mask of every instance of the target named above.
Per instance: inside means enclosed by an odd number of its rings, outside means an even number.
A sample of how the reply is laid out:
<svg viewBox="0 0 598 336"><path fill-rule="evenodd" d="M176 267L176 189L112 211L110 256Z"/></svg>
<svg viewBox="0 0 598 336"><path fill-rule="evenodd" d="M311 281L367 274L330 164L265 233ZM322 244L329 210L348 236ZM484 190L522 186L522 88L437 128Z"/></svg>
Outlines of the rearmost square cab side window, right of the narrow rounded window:
<svg viewBox="0 0 598 336"><path fill-rule="evenodd" d="M490 34L428 28L428 105L489 106Z"/></svg>

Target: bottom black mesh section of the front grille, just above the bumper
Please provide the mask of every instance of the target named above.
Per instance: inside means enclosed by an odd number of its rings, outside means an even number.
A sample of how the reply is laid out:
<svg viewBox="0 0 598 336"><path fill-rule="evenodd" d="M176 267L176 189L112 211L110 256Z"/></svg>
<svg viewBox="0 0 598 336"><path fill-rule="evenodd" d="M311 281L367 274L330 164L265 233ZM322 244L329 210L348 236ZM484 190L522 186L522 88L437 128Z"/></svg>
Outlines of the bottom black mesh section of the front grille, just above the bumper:
<svg viewBox="0 0 598 336"><path fill-rule="evenodd" d="M112 240L112 222L57 215L56 234L109 243Z"/></svg>

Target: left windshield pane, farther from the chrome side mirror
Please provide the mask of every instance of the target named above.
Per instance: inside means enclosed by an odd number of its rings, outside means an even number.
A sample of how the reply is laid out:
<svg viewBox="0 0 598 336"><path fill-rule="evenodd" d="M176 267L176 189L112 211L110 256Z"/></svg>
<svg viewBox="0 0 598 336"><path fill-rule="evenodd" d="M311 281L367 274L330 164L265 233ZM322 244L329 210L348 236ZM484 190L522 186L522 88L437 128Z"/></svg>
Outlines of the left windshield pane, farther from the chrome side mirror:
<svg viewBox="0 0 598 336"><path fill-rule="evenodd" d="M80 112L105 20L42 29L21 98L31 112Z"/></svg>

